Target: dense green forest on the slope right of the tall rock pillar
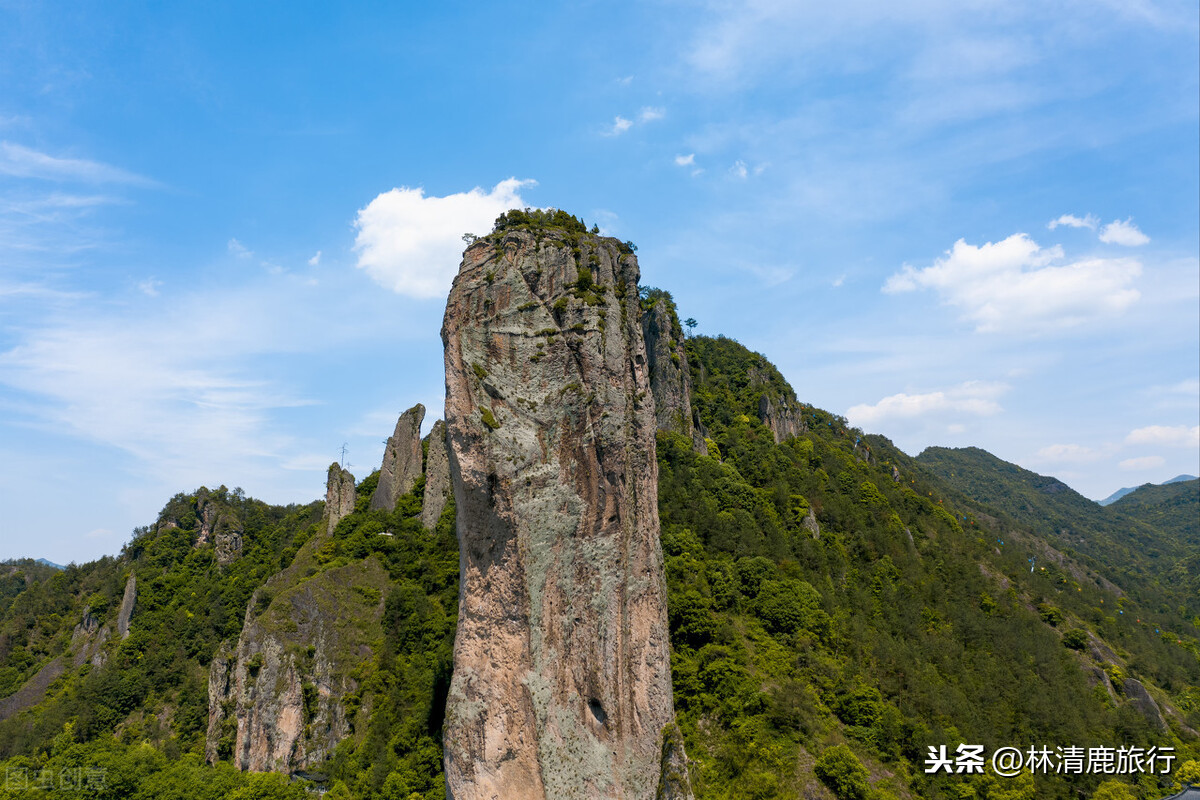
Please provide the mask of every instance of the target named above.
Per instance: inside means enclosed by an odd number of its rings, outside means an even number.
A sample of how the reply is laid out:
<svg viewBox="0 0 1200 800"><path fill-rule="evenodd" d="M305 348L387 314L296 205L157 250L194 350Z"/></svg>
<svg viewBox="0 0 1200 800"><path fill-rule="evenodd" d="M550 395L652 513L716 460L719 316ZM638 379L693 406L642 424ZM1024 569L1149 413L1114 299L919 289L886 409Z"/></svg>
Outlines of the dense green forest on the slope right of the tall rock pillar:
<svg viewBox="0 0 1200 800"><path fill-rule="evenodd" d="M1200 722L1193 626L1174 618L1169 644L1145 637L1124 624L1139 614L1129 597L1052 564L1030 573L1033 536L959 507L840 417L808 408L809 431L776 445L756 416L762 392L782 389L774 368L731 339L688 351L713 456L660 434L660 517L676 699L703 795L796 796L791 765L848 742L880 796L1076 796L1097 780L923 774L930 745L1171 741L1092 686L1063 630L1139 654L1139 676L1178 690Z"/></svg>

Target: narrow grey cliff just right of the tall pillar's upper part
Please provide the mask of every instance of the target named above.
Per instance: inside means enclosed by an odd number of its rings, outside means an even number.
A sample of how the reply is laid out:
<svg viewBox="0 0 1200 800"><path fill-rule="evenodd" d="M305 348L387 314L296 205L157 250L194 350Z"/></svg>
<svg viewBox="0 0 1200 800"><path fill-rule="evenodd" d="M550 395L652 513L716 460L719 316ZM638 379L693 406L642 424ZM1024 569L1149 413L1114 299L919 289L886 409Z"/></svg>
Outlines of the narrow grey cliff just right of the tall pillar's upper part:
<svg viewBox="0 0 1200 800"><path fill-rule="evenodd" d="M696 452L707 453L704 431L691 407L691 374L683 330L668 299L661 297L642 312L642 336L659 431L686 437Z"/></svg>

